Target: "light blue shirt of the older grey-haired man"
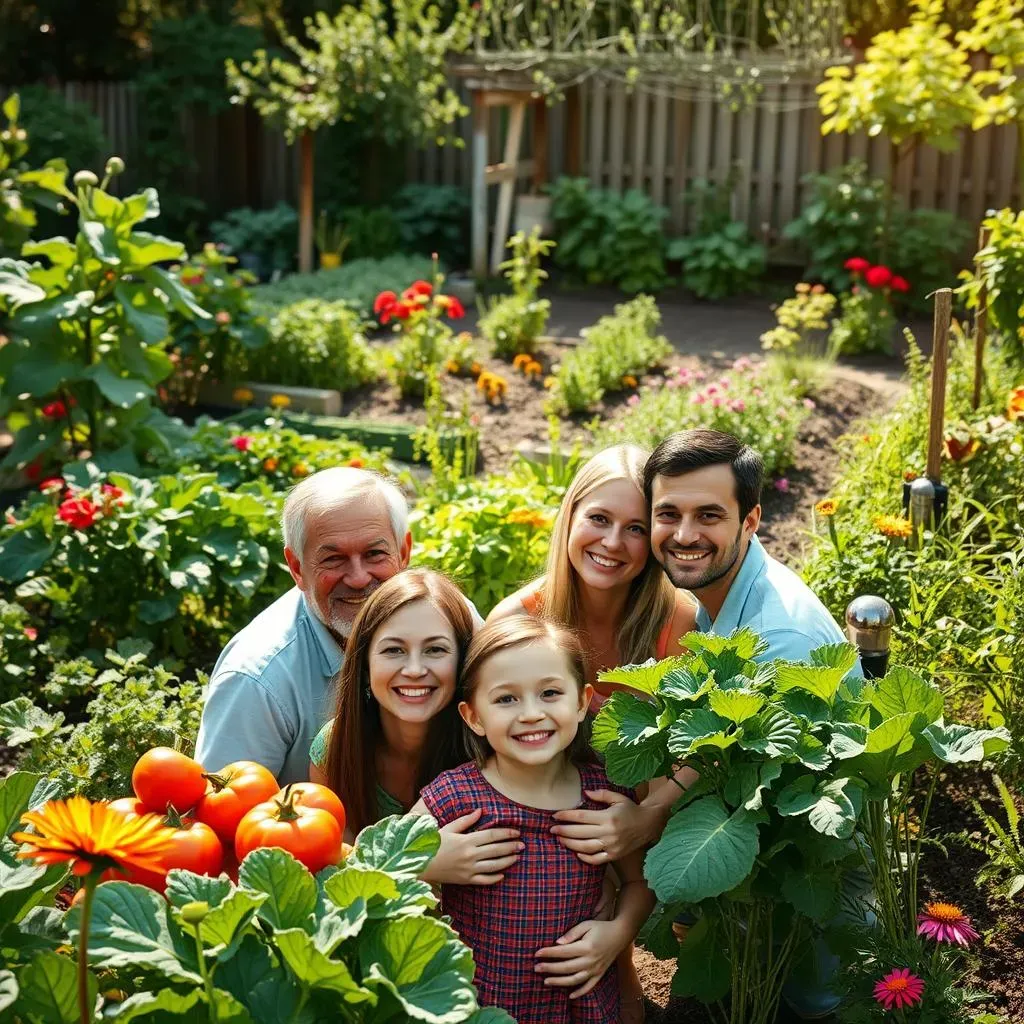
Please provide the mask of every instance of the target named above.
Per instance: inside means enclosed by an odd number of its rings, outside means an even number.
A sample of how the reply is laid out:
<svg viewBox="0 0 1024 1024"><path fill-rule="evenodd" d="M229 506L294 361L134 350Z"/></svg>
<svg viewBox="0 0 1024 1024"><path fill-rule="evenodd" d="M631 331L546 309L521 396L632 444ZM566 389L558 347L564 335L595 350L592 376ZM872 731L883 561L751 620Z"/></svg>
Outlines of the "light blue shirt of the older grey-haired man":
<svg viewBox="0 0 1024 1024"><path fill-rule="evenodd" d="M282 785L309 778L309 744L333 714L343 652L293 587L237 633L210 677L196 760L256 761Z"/></svg>

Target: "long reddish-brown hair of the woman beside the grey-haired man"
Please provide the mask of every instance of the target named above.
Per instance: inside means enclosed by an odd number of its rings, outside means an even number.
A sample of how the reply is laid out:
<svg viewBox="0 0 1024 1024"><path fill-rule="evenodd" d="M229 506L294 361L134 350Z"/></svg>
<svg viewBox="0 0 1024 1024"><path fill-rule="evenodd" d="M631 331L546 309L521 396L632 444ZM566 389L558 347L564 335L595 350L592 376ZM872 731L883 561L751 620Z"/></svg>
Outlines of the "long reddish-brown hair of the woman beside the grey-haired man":
<svg viewBox="0 0 1024 1024"><path fill-rule="evenodd" d="M370 645L377 631L413 601L429 601L449 621L458 652L456 681L473 637L473 618L466 599L446 577L430 569L407 569L391 577L359 610L338 675L338 697L325 774L345 805L353 833L377 820L377 758L383 739L380 706L370 692ZM416 781L419 792L437 775L466 760L459 717L459 696L430 722L426 748Z"/></svg>

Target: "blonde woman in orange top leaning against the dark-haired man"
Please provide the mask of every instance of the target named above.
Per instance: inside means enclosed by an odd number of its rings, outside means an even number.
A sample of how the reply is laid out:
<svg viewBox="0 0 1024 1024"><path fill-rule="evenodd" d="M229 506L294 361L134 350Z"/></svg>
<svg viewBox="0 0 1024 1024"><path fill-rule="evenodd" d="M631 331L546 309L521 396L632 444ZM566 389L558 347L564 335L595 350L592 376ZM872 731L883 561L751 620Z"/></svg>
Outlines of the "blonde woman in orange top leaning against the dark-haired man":
<svg viewBox="0 0 1024 1024"><path fill-rule="evenodd" d="M677 590L650 550L650 510L644 499L648 453L636 444L599 452L580 468L555 518L543 577L505 598L487 622L540 615L583 638L586 682L599 707L613 686L597 681L603 669L679 653L696 627L697 602ZM684 769L680 785L692 781ZM558 841L588 864L613 863L657 841L679 788L664 782L640 804L613 790L588 791L600 810L558 811ZM643 1020L643 992L632 946L618 957L623 1024Z"/></svg>

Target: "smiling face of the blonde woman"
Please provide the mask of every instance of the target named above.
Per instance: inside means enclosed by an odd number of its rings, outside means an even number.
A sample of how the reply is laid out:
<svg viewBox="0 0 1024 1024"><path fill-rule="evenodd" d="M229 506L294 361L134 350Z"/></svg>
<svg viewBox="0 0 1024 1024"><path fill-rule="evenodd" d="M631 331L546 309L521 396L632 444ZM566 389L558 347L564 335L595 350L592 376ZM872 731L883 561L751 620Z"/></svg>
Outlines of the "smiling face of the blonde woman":
<svg viewBox="0 0 1024 1024"><path fill-rule="evenodd" d="M631 480L595 487L577 506L568 557L581 582L595 590L635 580L650 555L647 505Z"/></svg>

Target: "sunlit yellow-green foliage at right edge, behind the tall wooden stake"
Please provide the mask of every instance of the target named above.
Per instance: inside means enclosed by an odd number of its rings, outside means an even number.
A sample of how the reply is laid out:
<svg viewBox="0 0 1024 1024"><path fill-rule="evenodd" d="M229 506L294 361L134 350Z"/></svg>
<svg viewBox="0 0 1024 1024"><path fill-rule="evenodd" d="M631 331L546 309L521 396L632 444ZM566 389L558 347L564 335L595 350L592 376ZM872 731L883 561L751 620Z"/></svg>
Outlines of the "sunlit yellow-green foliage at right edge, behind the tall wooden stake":
<svg viewBox="0 0 1024 1024"><path fill-rule="evenodd" d="M982 221L986 243L975 256L975 272L965 270L959 294L976 309L985 288L989 323L1006 344L1024 356L1024 212L992 211Z"/></svg>

